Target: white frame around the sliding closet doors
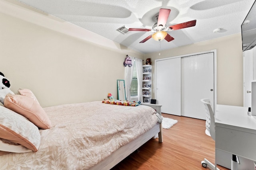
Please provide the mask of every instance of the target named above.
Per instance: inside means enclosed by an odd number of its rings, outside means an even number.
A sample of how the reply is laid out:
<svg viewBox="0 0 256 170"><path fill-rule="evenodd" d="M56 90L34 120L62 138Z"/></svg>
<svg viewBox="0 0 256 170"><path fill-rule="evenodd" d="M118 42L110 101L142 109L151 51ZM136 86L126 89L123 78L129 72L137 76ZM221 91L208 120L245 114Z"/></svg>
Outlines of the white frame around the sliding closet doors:
<svg viewBox="0 0 256 170"><path fill-rule="evenodd" d="M185 55L178 55L174 57L166 57L162 59L155 59L156 61L161 61L161 60L168 60L168 59L174 59L174 58L182 58L182 57L189 57L193 55L202 55L206 53L213 53L214 56L214 113L216 112L216 105L217 105L217 49L209 50L209 51L202 51L202 52L197 52L197 53L190 53L190 54L185 54ZM155 64L155 70L156 70L156 64ZM154 77L156 78L156 71L154 73ZM156 93L156 81L154 81L154 93Z"/></svg>

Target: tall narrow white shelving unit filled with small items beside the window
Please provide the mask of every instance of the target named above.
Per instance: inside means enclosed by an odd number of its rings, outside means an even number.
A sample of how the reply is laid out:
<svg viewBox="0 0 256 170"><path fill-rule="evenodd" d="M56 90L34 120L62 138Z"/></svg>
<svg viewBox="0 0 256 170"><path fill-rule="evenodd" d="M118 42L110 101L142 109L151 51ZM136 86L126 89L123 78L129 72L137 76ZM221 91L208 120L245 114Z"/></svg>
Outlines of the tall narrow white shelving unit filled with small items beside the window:
<svg viewBox="0 0 256 170"><path fill-rule="evenodd" d="M152 96L152 65L142 66L142 97L143 103L150 103Z"/></svg>

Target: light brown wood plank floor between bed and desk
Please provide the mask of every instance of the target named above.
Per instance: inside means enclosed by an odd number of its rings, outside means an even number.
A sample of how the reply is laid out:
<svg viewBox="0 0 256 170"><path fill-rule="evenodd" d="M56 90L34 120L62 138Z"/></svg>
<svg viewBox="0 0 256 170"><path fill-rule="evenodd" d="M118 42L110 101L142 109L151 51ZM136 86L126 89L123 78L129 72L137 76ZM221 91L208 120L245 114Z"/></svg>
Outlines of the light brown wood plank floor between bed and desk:
<svg viewBox="0 0 256 170"><path fill-rule="evenodd" d="M205 121L162 115L178 120L170 129L163 129L164 142L151 139L112 170L208 170L202 167L201 161L206 158L215 162L215 142L205 134Z"/></svg>

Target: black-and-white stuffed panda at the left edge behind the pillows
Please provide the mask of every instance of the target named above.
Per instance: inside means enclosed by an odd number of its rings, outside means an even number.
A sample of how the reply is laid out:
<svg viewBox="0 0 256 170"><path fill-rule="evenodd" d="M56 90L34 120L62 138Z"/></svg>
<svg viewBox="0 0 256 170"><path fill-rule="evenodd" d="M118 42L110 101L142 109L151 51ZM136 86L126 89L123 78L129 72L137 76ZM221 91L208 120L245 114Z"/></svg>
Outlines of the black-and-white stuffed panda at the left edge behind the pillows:
<svg viewBox="0 0 256 170"><path fill-rule="evenodd" d="M10 86L10 81L4 77L2 72L0 72L0 102L2 104L4 104L4 98L6 94L14 94L14 92L10 90Z"/></svg>

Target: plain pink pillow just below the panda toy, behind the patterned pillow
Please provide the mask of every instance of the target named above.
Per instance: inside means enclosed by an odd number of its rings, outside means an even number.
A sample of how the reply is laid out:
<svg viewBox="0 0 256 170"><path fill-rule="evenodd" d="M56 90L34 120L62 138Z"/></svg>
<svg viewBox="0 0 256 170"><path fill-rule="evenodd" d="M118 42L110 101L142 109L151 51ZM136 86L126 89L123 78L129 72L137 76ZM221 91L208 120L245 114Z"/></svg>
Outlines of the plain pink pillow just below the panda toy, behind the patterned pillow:
<svg viewBox="0 0 256 170"><path fill-rule="evenodd" d="M38 103L34 94L28 89L19 90L19 92L21 95L6 95L4 106L28 118L38 128L50 129L52 126L50 119Z"/></svg>

